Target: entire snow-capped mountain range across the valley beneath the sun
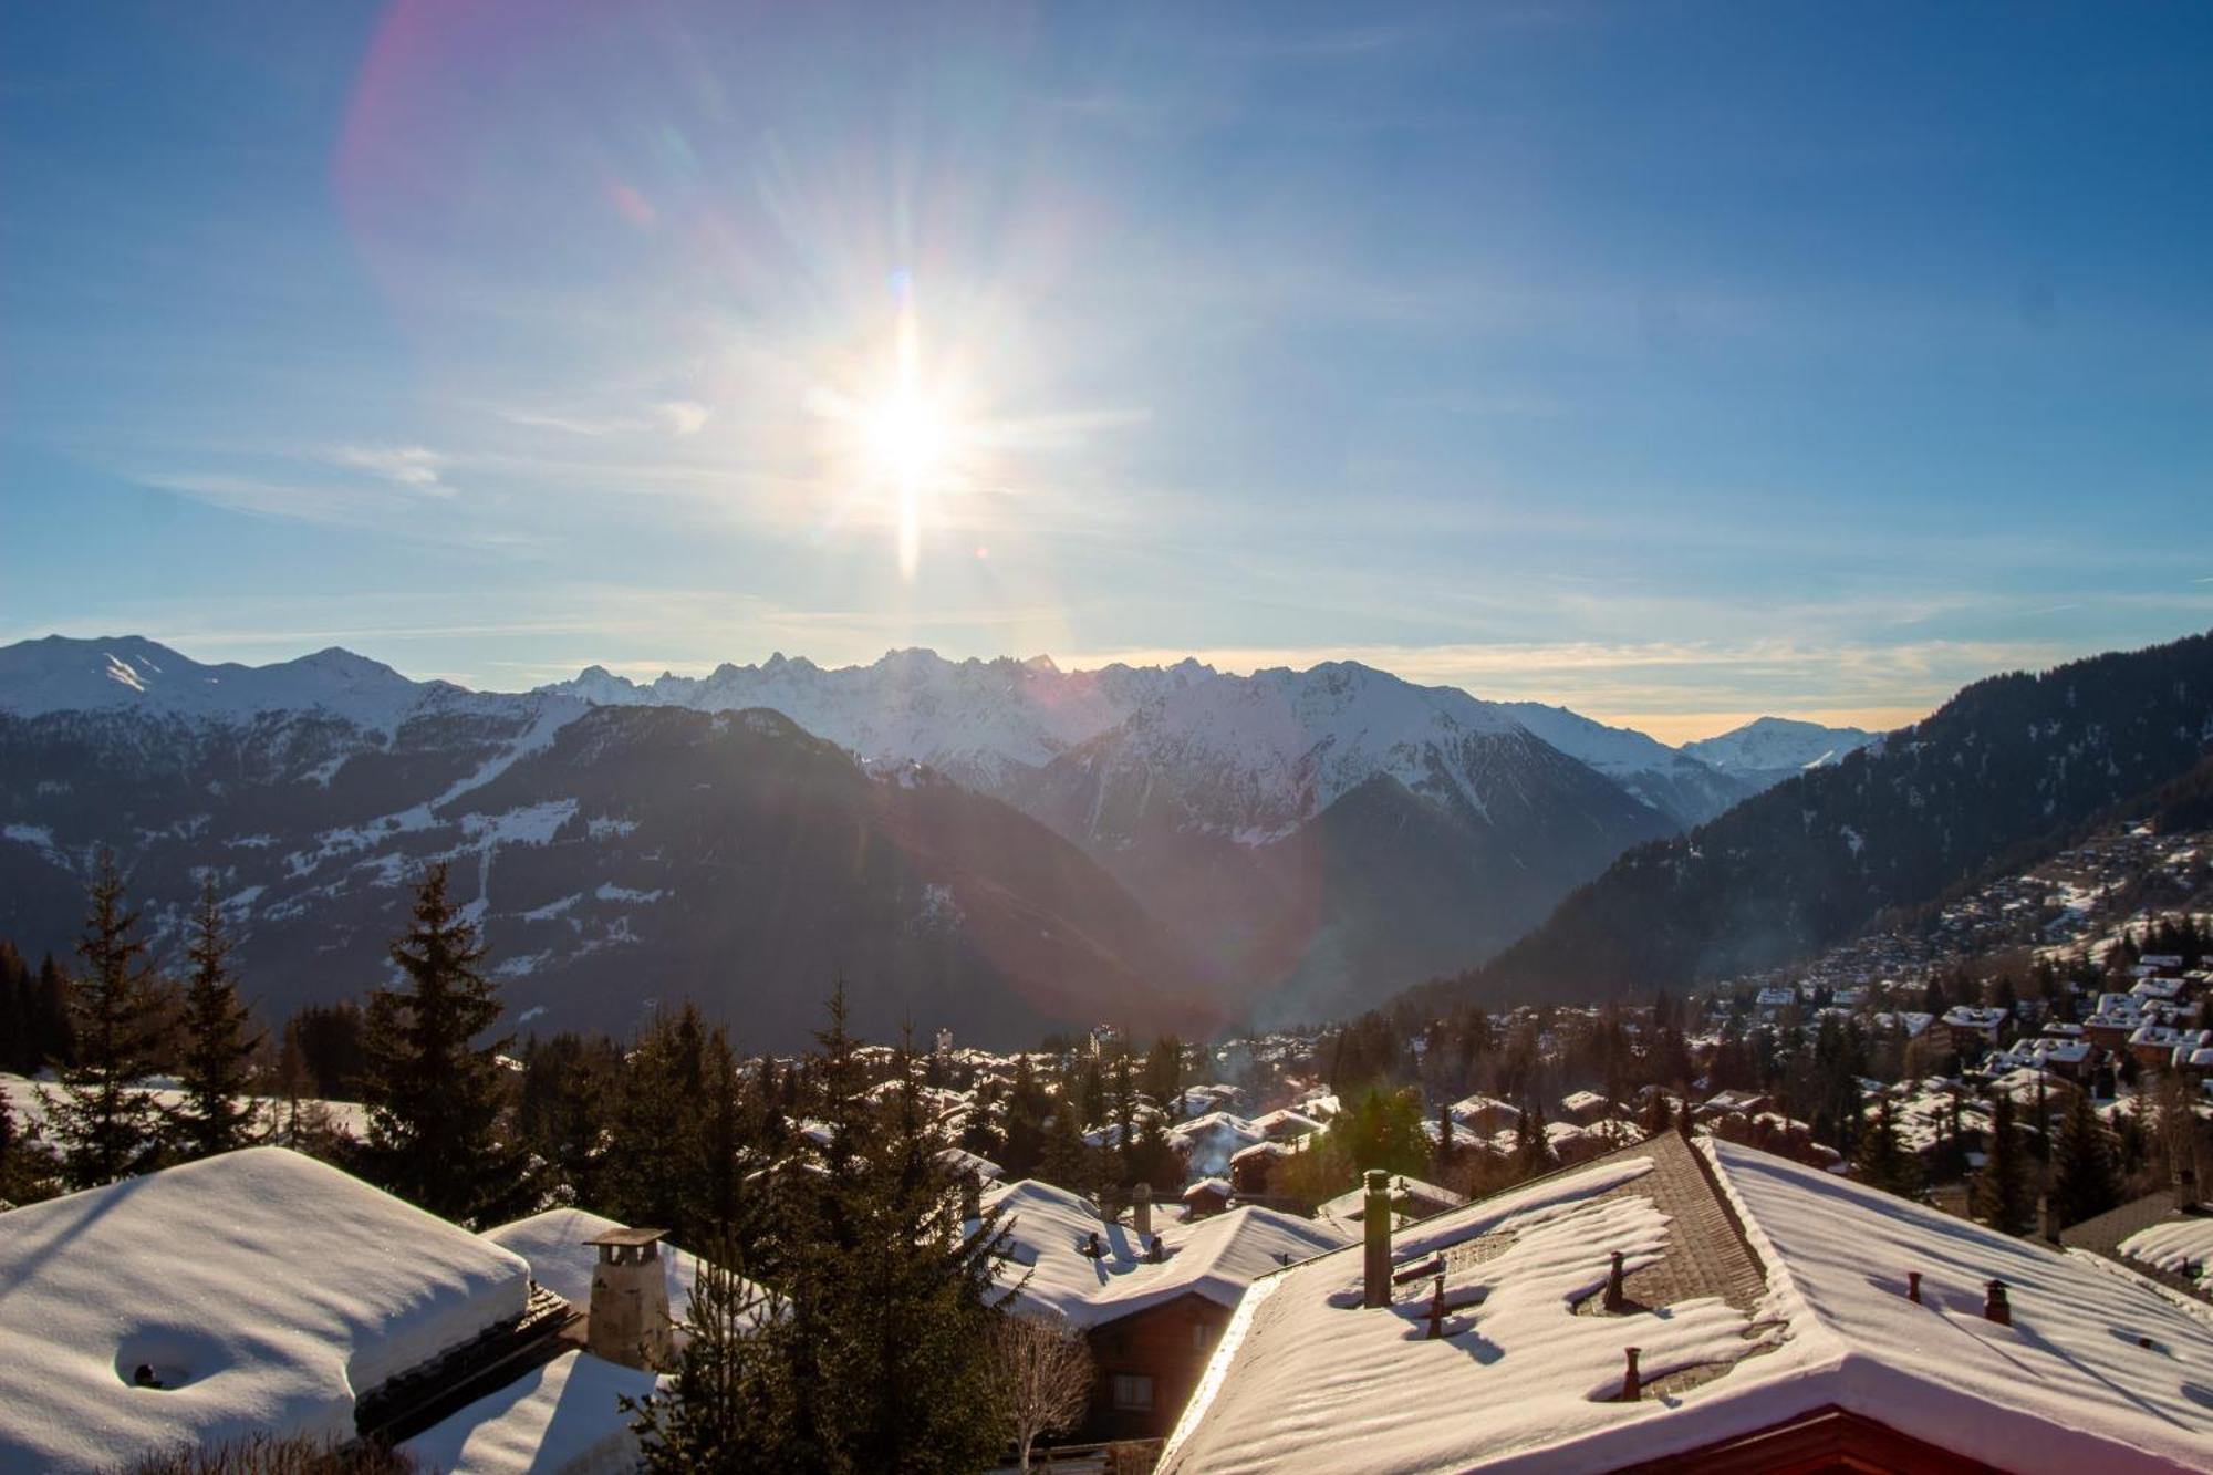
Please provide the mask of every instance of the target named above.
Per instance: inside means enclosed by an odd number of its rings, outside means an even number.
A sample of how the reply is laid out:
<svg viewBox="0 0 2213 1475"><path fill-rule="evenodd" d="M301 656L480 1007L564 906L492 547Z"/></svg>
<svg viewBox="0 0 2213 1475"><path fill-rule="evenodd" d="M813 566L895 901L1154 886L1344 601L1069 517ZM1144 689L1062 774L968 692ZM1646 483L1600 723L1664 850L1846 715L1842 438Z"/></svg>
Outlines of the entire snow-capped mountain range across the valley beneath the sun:
<svg viewBox="0 0 2213 1475"><path fill-rule="evenodd" d="M64 948L113 846L175 946L212 868L277 1012L378 981L405 881L445 859L547 1028L688 994L783 1045L843 974L874 1032L1204 1032L1483 959L1866 735L1755 738L1708 762L1350 662L894 651L476 693L339 649L55 636L0 649L0 935Z"/></svg>

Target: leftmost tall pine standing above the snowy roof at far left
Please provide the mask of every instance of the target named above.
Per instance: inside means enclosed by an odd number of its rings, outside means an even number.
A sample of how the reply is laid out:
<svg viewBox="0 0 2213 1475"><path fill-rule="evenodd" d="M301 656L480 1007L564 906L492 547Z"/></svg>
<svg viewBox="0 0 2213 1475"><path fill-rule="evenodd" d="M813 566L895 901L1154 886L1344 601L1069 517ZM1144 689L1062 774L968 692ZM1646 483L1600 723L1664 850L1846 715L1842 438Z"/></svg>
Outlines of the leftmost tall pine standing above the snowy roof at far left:
<svg viewBox="0 0 2213 1475"><path fill-rule="evenodd" d="M115 855L102 855L77 941L84 972L69 990L75 1063L62 1072L62 1094L49 1098L62 1176L73 1189L146 1172L162 1145L162 1114L135 1087L153 1067L162 1030L162 999L135 930Z"/></svg>

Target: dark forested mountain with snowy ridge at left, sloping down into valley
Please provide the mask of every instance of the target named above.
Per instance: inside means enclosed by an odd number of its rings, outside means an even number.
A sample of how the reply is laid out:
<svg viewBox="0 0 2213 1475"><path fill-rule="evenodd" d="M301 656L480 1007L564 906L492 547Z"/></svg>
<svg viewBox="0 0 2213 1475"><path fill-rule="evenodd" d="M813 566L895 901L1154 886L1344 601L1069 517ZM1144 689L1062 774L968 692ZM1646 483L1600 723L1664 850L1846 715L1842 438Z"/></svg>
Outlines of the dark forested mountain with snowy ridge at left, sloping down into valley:
<svg viewBox="0 0 2213 1475"><path fill-rule="evenodd" d="M874 1034L1219 1017L1076 846L949 780L870 775L768 711L463 693L316 658L243 680L120 640L13 647L0 671L0 937L33 957L66 957L113 848L164 959L212 875L248 992L283 1017L383 981L407 886L445 862L529 1028L628 1030L695 997L783 1048L839 972Z"/></svg>

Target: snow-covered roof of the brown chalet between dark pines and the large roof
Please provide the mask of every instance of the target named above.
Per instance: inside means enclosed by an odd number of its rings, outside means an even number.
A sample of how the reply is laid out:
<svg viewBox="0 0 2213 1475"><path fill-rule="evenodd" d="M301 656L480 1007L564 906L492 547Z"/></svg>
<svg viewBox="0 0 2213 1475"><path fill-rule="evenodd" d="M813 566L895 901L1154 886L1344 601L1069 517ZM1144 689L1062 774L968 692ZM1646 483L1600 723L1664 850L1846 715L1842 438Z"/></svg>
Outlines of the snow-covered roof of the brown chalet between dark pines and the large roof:
<svg viewBox="0 0 2213 1475"><path fill-rule="evenodd" d="M1051 1183L1022 1178L983 1203L1000 1211L1014 1236L1000 1280L1014 1285L1027 1276L1016 1307L1058 1313L1073 1327L1098 1327L1186 1293L1235 1307L1246 1285L1281 1269L1286 1256L1306 1260L1350 1240L1334 1225L1241 1207L1191 1223L1162 1218L1155 1236L1166 1260L1153 1262L1129 1223L1104 1223L1095 1203ZM1084 1254L1093 1231L1098 1258Z"/></svg>

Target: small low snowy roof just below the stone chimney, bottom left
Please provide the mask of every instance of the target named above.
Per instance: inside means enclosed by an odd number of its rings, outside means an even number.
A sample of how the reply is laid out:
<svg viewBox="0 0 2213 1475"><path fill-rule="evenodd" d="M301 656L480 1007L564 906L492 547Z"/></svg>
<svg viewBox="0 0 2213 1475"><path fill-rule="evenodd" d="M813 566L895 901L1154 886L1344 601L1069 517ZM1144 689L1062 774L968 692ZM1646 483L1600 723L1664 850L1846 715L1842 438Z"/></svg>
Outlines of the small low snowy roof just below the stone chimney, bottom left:
<svg viewBox="0 0 2213 1475"><path fill-rule="evenodd" d="M445 1475L628 1475L637 1435L624 1397L657 1378L571 1351L401 1444Z"/></svg>

